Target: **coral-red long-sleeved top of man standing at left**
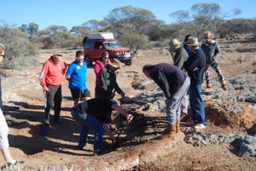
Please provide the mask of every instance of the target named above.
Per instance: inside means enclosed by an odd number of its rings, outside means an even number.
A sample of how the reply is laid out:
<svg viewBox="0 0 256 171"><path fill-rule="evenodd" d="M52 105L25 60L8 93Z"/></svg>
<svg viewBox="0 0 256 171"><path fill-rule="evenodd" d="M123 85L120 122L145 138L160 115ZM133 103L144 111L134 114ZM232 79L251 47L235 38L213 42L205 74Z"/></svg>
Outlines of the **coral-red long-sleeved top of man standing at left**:
<svg viewBox="0 0 256 171"><path fill-rule="evenodd" d="M44 63L43 69L40 73L40 84L42 87L46 85L61 85L63 81L63 75L67 69L65 62L61 61L59 64L55 65L53 60L49 58Z"/></svg>

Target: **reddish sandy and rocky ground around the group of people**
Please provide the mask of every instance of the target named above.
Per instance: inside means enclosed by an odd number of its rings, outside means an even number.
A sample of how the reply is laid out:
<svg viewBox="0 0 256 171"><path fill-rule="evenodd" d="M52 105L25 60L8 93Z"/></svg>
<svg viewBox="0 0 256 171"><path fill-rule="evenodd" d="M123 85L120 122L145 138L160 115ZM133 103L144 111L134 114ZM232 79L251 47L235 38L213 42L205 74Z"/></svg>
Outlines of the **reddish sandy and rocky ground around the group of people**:
<svg viewBox="0 0 256 171"><path fill-rule="evenodd" d="M222 47L227 46L223 43ZM237 43L236 48L240 49ZM69 112L73 101L67 81L62 85L63 124L51 123L46 137L38 135L44 118L44 97L38 74L44 61L55 52L64 54L63 60L67 63L74 59L75 50L42 50L38 65L19 71L1 71L3 113L10 126L10 149L15 158L25 161L24 166L12 170L255 170L254 63L240 62L234 66L220 59L229 90L220 88L212 72L213 88L203 88L202 94L207 128L196 131L183 127L176 140L159 140L166 127L165 98L160 89L143 76L142 67L172 60L162 49L140 52L134 65L123 66L118 71L119 85L128 97L119 99L117 95L116 100L134 115L134 120L125 127L116 146L105 136L106 153L93 156L92 135L83 151L77 148L80 125ZM89 68L91 94L94 94L94 84L95 74L93 68ZM114 134L124 126L124 118L114 114Z"/></svg>

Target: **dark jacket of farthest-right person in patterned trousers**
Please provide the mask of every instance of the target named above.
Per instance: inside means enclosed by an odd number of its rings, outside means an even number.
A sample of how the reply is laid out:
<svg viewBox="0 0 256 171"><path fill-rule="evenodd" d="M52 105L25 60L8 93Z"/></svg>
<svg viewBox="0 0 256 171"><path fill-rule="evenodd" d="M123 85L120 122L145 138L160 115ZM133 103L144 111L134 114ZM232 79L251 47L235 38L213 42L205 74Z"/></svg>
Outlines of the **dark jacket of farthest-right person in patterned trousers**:
<svg viewBox="0 0 256 171"><path fill-rule="evenodd" d="M211 65L218 59L220 48L216 41L212 40L211 42L204 42L201 44L201 48L206 54L207 65Z"/></svg>

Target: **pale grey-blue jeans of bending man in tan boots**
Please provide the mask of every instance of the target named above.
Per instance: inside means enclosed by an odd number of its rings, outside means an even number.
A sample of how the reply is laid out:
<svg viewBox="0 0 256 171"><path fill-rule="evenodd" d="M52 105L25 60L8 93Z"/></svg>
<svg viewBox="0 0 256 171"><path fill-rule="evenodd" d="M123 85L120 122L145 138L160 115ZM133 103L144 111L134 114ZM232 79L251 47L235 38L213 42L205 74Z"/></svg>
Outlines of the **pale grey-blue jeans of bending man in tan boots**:
<svg viewBox="0 0 256 171"><path fill-rule="evenodd" d="M171 99L166 104L167 121L169 124L175 124L180 118L180 105L185 94L189 89L190 78L187 77L183 85L177 90L176 94L172 94Z"/></svg>

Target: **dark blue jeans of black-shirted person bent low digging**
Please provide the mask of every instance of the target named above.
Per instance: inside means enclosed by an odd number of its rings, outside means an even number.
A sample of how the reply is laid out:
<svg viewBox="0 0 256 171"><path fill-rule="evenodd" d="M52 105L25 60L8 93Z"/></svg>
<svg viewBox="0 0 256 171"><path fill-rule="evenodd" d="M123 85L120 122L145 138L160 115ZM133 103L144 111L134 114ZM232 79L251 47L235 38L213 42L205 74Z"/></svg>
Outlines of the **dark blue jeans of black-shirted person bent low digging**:
<svg viewBox="0 0 256 171"><path fill-rule="evenodd" d="M86 145L89 128L92 128L94 134L94 151L102 151L102 123L98 119L96 119L96 117L93 117L90 114L80 114L74 110L71 111L71 114L75 119L77 119L80 123L83 124L80 131L79 145Z"/></svg>

